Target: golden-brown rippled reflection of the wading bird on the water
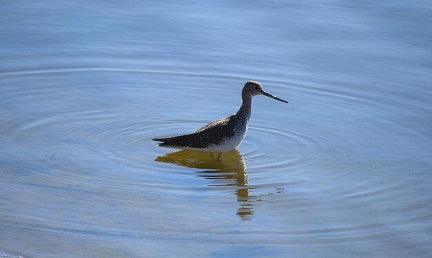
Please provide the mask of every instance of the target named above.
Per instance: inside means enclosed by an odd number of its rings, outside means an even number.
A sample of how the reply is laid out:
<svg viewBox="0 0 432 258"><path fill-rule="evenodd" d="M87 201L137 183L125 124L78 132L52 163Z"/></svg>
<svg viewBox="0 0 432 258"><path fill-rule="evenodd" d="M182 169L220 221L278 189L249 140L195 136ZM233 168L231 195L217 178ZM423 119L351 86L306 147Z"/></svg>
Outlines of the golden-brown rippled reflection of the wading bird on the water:
<svg viewBox="0 0 432 258"><path fill-rule="evenodd" d="M199 177L214 180L209 186L235 186L235 195L239 203L237 215L242 220L253 218L253 201L257 198L249 195L248 175L243 156L238 150L224 152L218 158L210 152L180 150L156 157L155 161L175 163L188 168L198 168Z"/></svg>

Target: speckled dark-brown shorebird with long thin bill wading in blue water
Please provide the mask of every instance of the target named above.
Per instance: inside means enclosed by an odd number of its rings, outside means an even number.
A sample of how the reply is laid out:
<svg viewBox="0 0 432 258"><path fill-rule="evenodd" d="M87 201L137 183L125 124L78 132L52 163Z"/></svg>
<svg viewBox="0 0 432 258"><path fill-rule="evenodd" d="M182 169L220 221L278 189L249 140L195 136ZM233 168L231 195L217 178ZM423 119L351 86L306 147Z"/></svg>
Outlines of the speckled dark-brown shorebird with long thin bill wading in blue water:
<svg viewBox="0 0 432 258"><path fill-rule="evenodd" d="M242 90L242 106L235 114L207 123L202 128L187 135L155 138L153 141L161 141L161 143L157 144L159 147L219 152L218 157L220 157L221 152L233 150L242 143L251 117L252 98L257 95L264 95L288 103L265 92L261 84L256 81L248 81L244 84Z"/></svg>

